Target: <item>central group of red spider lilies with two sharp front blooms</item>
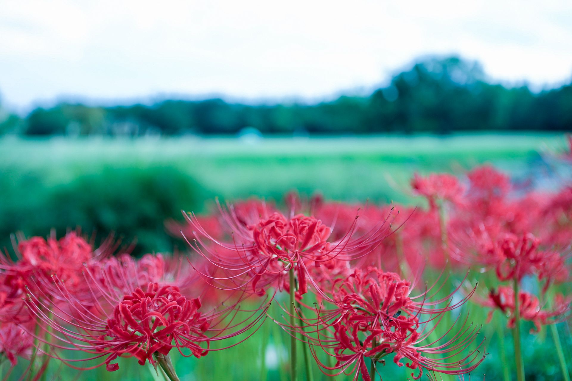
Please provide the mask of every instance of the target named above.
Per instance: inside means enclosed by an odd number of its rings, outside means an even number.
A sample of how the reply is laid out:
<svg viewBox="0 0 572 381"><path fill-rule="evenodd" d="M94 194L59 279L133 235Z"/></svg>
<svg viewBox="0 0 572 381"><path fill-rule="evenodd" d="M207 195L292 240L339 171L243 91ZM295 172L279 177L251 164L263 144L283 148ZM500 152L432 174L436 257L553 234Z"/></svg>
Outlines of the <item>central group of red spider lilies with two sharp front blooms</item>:
<svg viewBox="0 0 572 381"><path fill-rule="evenodd" d="M355 378L362 375L370 380L366 358L381 362L389 354L398 366L406 358L407 367L419 370L416 378L424 369L464 374L484 359L484 351L479 351L483 342L475 343L479 329L467 322L448 327L443 335L451 334L448 339L428 339L442 317L470 295L455 303L450 298L457 290L439 298L435 298L437 292L431 293L432 288L411 296L412 283L385 270L399 269L398 256L390 248L395 247L398 210L360 209L317 198L311 200L309 215L305 215L297 212L304 209L303 203L291 200L290 204L289 216L268 210L263 202L251 202L256 212L242 210L240 214L232 205L219 205L227 240L202 227L201 217L186 215L190 224L186 238L210 264L205 268L208 271L199 271L205 281L221 290L256 295L269 288L276 295L294 287L299 308L294 313L286 307L283 310L300 324L275 321L312 347L326 374L350 372ZM320 307L305 304L307 299L317 300ZM317 348L332 356L335 364L321 362Z"/></svg>

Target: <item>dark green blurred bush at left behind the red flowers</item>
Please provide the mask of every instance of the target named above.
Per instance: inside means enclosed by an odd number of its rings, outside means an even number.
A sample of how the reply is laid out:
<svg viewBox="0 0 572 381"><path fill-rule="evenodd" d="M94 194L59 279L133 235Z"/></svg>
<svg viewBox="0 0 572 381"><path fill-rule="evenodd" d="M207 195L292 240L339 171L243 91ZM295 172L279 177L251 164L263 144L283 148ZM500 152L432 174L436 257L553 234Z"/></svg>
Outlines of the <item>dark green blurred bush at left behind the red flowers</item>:
<svg viewBox="0 0 572 381"><path fill-rule="evenodd" d="M97 173L77 173L71 181L51 183L49 173L0 176L0 231L3 247L10 233L45 236L50 228L63 234L81 227L99 238L117 233L125 243L136 239L134 254L172 251L174 240L164 227L166 216L180 214L181 205L197 203L194 182L172 167L102 167Z"/></svg>

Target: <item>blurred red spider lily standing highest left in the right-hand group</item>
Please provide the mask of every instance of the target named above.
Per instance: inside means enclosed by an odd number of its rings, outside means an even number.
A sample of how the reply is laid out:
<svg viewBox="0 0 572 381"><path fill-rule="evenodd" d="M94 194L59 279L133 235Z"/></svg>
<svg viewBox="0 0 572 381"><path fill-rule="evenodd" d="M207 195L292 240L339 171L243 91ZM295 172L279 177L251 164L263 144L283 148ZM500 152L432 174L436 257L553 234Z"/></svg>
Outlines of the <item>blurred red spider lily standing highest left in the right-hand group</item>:
<svg viewBox="0 0 572 381"><path fill-rule="evenodd" d="M431 207L436 207L437 200L446 200L457 204L462 202L463 186L450 174L430 174L427 177L414 175L411 188L415 194L427 198Z"/></svg>

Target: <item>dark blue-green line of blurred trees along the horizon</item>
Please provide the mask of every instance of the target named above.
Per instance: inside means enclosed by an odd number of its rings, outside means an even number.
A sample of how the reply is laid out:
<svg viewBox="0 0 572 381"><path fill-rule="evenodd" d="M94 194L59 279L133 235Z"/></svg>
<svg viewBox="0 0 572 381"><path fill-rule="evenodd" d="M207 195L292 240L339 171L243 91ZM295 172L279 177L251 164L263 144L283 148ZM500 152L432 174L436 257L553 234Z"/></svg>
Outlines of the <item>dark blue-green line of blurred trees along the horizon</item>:
<svg viewBox="0 0 572 381"><path fill-rule="evenodd" d="M449 133L478 130L572 130L572 83L534 93L488 83L476 62L431 58L368 97L316 105L241 105L222 99L151 106L90 107L61 103L0 122L23 135Z"/></svg>

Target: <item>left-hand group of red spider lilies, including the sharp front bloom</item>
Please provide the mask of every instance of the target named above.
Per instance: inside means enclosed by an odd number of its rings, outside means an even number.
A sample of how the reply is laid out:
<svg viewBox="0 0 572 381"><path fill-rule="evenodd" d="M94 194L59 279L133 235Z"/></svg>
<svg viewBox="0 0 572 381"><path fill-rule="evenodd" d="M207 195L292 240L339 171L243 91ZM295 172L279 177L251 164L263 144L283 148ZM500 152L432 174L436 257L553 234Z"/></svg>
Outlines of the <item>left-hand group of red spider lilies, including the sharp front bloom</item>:
<svg viewBox="0 0 572 381"><path fill-rule="evenodd" d="M105 364L114 371L118 356L131 356L168 367L173 348L200 358L211 343L256 328L264 317L261 303L233 321L246 297L236 292L202 306L201 297L210 295L206 285L178 255L109 255L116 247L106 241L94 249L70 232L60 240L22 240L16 260L2 256L0 352L12 364L15 356L30 358L35 342L31 358L41 356L43 364L55 358L78 369ZM69 351L86 355L67 358ZM94 366L76 365L100 358Z"/></svg>

